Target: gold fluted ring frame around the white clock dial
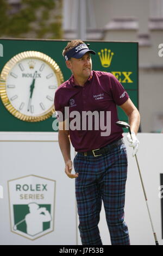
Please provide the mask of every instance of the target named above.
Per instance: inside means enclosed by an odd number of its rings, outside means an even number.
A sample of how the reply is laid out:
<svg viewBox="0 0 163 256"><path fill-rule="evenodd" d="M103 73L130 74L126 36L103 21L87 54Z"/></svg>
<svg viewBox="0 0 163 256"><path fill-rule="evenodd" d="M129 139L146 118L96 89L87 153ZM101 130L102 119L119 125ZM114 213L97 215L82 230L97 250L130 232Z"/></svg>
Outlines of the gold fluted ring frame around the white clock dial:
<svg viewBox="0 0 163 256"><path fill-rule="evenodd" d="M42 53L42 52L25 51L25 52L16 54L4 65L2 72L1 72L1 76L0 76L0 96L1 96L1 100L3 102L3 105L5 106L5 108L8 109L8 111L12 115L14 115L14 117L16 117L20 120L23 120L23 121L37 122L37 121L46 120L47 118L51 117L52 114L55 112L54 106L52 106L45 113L43 113L42 115L39 115L39 116L33 117L33 116L25 115L25 114L20 113L16 108L14 108L12 106L12 104L8 98L7 90L6 90L7 76L9 75L10 70L21 60L30 59L30 58L43 60L43 62L45 62L49 66L51 66L51 68L53 69L53 71L55 72L55 75L57 77L58 86L60 86L60 84L62 82L64 82L64 77L59 68L59 65L51 57L49 57L48 55L46 55L45 53Z"/></svg>

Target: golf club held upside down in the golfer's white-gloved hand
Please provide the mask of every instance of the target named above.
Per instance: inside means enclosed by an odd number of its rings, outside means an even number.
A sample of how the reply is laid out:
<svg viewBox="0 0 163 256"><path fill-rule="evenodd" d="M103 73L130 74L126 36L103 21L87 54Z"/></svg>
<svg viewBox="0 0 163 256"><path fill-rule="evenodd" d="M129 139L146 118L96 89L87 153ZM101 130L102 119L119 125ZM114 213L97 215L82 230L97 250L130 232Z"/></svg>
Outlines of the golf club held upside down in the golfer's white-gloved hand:
<svg viewBox="0 0 163 256"><path fill-rule="evenodd" d="M128 131L129 131L129 133L130 133L130 136L131 136L130 125L129 125L128 123L123 122L123 121L117 121L117 122L116 122L116 125L121 126L121 127L123 127L123 128L127 128ZM132 136L131 136L131 139L133 139ZM147 202L147 196L146 196L145 186L143 185L143 180L142 180L142 176L141 176L141 172L140 172L140 167L139 167L139 163L138 163L138 161L137 161L137 156L136 156L136 154L135 154L135 159L136 159L136 163L137 163L137 168L138 168L138 170L139 170L141 185L142 185L143 192L144 192L145 199L146 199L146 205L147 205L148 214L149 214L149 218L150 218L151 225L152 225L152 230L153 230L155 245L159 245L158 239L157 239L157 237L156 237L156 233L155 233L155 231L154 231L154 227L153 227L153 223L152 223L151 214L150 214L150 212L149 212L149 207L148 207L148 202Z"/></svg>

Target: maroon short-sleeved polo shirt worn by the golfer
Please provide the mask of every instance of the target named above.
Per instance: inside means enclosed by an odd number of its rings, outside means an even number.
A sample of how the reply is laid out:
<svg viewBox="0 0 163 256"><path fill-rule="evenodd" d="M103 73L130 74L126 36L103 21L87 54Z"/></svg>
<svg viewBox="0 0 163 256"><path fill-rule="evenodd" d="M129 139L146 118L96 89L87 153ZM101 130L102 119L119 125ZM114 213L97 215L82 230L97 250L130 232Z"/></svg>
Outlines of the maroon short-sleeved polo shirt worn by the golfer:
<svg viewBox="0 0 163 256"><path fill-rule="evenodd" d="M91 75L83 87L74 84L73 75L69 80L62 83L55 92L54 107L55 111L61 111L62 113L65 112L65 107L69 107L68 112L70 114L72 111L80 113L81 130L70 129L70 139L76 151L85 152L102 148L123 137L122 128L115 124L118 121L116 105L122 105L128 98L126 90L114 75L107 72L91 71ZM101 132L106 130L101 130L100 125L99 129L95 130L95 118L92 118L92 130L88 130L89 126L87 124L86 130L82 130L83 111L98 111L99 117L103 111L104 125L110 125L111 127L110 135L101 136ZM109 124L106 124L106 121L108 121L106 119L107 111L111 113ZM74 118L76 118L75 115L73 118L69 117L69 122L71 123Z"/></svg>

